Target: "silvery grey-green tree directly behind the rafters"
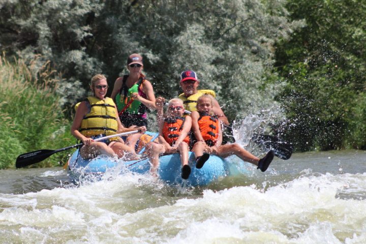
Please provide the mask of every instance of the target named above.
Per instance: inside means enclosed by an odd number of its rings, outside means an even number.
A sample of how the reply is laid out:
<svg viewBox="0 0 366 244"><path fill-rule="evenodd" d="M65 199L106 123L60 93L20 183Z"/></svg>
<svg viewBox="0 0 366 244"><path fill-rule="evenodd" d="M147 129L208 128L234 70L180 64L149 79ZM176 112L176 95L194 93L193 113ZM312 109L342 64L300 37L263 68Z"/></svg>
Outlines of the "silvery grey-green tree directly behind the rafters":
<svg viewBox="0 0 366 244"><path fill-rule="evenodd" d="M273 106L281 83L265 83L273 44L301 22L289 23L284 1L3 1L3 50L26 59L42 54L66 80L64 102L85 96L90 77L113 84L127 56L141 53L158 95L179 92L178 76L197 71L215 89L231 119Z"/></svg>

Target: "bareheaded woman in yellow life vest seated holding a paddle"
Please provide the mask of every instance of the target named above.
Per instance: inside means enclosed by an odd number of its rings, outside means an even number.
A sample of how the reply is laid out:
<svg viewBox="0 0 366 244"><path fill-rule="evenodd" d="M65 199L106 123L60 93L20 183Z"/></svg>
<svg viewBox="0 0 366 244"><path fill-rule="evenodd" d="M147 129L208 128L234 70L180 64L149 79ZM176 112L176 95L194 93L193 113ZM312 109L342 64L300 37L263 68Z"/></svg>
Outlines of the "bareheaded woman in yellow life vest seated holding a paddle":
<svg viewBox="0 0 366 244"><path fill-rule="evenodd" d="M113 100L105 97L108 84L104 75L95 75L90 83L90 88L93 90L94 96L87 97L75 108L76 114L71 127L71 134L84 144L80 148L80 156L84 159L94 158L101 154L123 157L126 153L129 159L136 159L135 150L125 145L120 137L103 141L93 140L136 129L126 129L121 125ZM137 129L142 133L146 131L145 127Z"/></svg>

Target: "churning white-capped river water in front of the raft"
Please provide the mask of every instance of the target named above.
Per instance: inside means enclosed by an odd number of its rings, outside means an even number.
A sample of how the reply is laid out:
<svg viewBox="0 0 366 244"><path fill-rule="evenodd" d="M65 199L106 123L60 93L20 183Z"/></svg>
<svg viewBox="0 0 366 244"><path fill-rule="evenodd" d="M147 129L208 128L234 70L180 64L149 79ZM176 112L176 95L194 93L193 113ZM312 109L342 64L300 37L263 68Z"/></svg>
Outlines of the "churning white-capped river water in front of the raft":
<svg viewBox="0 0 366 244"><path fill-rule="evenodd" d="M234 162L235 159L233 158ZM294 154L201 188L0 170L0 243L366 243L366 152Z"/></svg>

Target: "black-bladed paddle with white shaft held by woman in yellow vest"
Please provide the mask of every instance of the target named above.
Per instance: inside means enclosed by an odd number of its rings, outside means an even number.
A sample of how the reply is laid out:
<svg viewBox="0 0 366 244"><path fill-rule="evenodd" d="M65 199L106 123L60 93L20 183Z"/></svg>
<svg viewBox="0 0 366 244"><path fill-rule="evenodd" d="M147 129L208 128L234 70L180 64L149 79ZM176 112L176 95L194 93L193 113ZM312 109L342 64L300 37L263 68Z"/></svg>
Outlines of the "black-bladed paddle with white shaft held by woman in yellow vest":
<svg viewBox="0 0 366 244"><path fill-rule="evenodd" d="M105 139L116 137L116 136L127 136L127 135L134 134L137 132L139 132L139 131L134 130L134 131L119 133L119 134L115 134L115 135L104 136L104 137L97 138L94 141L101 141L101 140L105 140ZM22 168L22 167L25 167L28 165L32 165L32 164L41 162L41 161L47 159L48 157L50 157L51 155L59 153L60 151L65 151L65 150L68 150L68 149L71 149L74 147L80 147L82 145L83 145L83 143L79 143L79 144L75 144L72 146L60 148L57 150L41 149L41 150L31 151L30 153L21 154L16 159L15 167Z"/></svg>

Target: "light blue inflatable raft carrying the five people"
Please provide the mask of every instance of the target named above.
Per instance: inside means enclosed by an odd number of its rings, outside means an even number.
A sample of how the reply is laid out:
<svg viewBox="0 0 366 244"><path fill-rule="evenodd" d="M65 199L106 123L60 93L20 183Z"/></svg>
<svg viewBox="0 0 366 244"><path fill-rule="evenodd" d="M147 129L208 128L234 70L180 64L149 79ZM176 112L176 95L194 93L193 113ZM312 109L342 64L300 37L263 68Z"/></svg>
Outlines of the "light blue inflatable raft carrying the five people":
<svg viewBox="0 0 366 244"><path fill-rule="evenodd" d="M232 156L235 157L235 156ZM236 157L235 157L236 158ZM227 161L217 156L211 155L201 169L196 168L194 154L189 153L189 165L191 166L191 174L187 179L188 186L207 186L211 182L220 180L229 175L252 174L249 169L249 163L245 163L238 158ZM78 155L78 150L71 156L69 160L69 176L72 181L79 182L80 179L93 176L100 178L108 169L120 170L120 173L131 171L138 174L148 174L150 164L148 159L135 161L122 161L112 159L106 156L98 156L95 159L84 160ZM161 180L169 185L182 184L184 179L181 178L181 164L179 154L172 154L160 157L160 166L158 175Z"/></svg>

